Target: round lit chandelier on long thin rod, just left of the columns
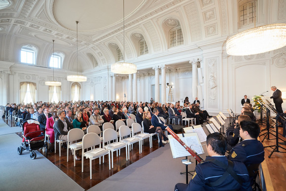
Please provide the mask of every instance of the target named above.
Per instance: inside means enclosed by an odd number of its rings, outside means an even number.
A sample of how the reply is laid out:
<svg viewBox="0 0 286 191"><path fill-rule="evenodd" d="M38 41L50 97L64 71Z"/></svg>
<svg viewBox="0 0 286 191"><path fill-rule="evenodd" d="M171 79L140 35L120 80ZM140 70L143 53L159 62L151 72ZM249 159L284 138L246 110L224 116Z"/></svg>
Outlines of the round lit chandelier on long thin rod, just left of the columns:
<svg viewBox="0 0 286 191"><path fill-rule="evenodd" d="M111 65L111 72L114 74L134 74L137 73L137 66L132 63L125 62L125 14L123 0L123 62L117 62Z"/></svg>

